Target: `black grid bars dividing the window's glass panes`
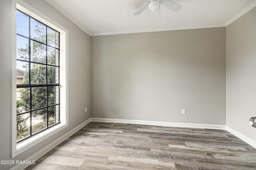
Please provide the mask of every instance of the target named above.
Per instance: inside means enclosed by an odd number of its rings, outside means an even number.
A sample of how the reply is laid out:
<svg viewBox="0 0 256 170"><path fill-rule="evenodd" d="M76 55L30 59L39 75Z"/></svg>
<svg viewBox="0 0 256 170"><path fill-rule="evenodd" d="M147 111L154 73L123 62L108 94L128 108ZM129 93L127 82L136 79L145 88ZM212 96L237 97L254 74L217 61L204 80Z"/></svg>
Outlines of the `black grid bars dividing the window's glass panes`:
<svg viewBox="0 0 256 170"><path fill-rule="evenodd" d="M19 34L19 33L16 33L16 35L17 35L17 37L24 37L24 38L26 38L26 39L28 39L28 43L30 43L28 46L31 46L31 51L33 51L33 49L32 49L32 45L31 45L31 42L38 42L38 43L40 43L40 44L42 44L42 45L44 45L45 46L45 48L46 48L46 54L48 54L47 53L47 49L48 48L53 48L54 50L58 50L58 55L57 55L57 60L58 60L58 62L60 61L60 48L59 48L59 45L60 45L60 32L58 32L58 31L56 31L55 29L52 29L51 27L49 27L49 25L46 25L46 24L44 24L44 23L42 23L42 22L40 22L40 21L38 21L38 20L36 20L35 18L33 18L32 16L30 16L30 15L28 15L28 14L26 14L26 13L24 13L23 11L21 11L21 10L18 10L17 9L17 12L19 13L19 14L21 14L21 15L23 15L23 16L26 16L26 17L28 17L28 20L29 20L29 23L31 22L31 21L34 21L34 22L37 22L37 23L40 23L41 25L43 25L44 27L45 27L45 29L46 29L46 33L45 33L45 35L46 35L46 42L45 43L43 43L43 42L39 42L39 41L36 41L35 39L33 39L32 37L31 37L31 33L29 33L29 35L28 36L26 36L26 35L22 35L22 34ZM16 12L16 13L17 13ZM48 41L47 41L47 30L48 29L51 29L51 30L53 30L54 32L56 32L56 33L58 33L58 46L57 47L52 47L52 46L49 46L49 44L48 44ZM29 29L28 30L31 30L31 24L29 24ZM16 51L16 53L17 53L17 51ZM46 98L47 98L47 101L49 100L49 95L48 95L48 89L49 89L49 87L60 87L60 82L59 82L59 80L60 80L60 72L58 71L58 74L57 74L57 76L58 76L58 78L57 78L57 80L58 80L58 82L55 82L55 83L48 83L48 73L47 73L47 71L48 71L48 66L51 66L51 67L55 67L55 69L57 69L58 68L58 70L59 70L59 68L60 68L60 66L59 66L59 64L55 64L55 65L53 65L53 64L48 64L48 55L46 55L46 62L45 63L38 63L38 61L33 61L33 56L31 55L31 52L29 53L29 55L30 55L30 59L28 59L28 60L25 60L25 59L20 59L20 58L17 58L16 59L16 61L21 61L21 62L24 62L24 63L27 63L27 64L29 64L30 65L30 67L28 68L28 70L29 70L29 81L28 81L28 84L16 84L16 89L20 89L20 88L29 88L29 90L30 90L30 93L32 93L32 89L33 88L38 88L38 87L44 87L44 88L46 88L47 90L46 90L46 92L47 92L47 95L46 95ZM17 56L17 55L16 55ZM16 62L17 63L17 62ZM40 64L40 65L44 65L45 66L45 68L46 68L46 82L44 83L44 84L35 84L35 83L31 83L31 80L30 80L30 77L31 77L31 64ZM30 110L29 111L23 111L23 112L21 112L21 113L16 113L16 116L18 117L18 116L20 116L20 115L25 115L25 114L29 114L30 115L30 125L29 125L29 127L30 127L30 133L29 133L29 135L28 136L25 136L24 138L22 138L22 139L20 139L20 140L18 140L17 141L17 143L19 143L19 142L21 142L21 141L24 141L24 140L26 140L26 139L28 139L28 138L30 138L30 137L32 137L32 136L34 136L34 135L36 135L36 134L38 134L38 133L42 133L42 131L45 131L46 129L48 129L48 128L50 128L50 127L52 127L52 126L55 126L55 125L57 125L58 123L60 123L60 109L58 109L58 112L57 112L57 116L58 116L58 119L57 119L57 122L55 122L53 125L50 125L49 126L49 120L48 120L48 108L49 107L55 107L55 106L58 106L58 108L60 107L60 103L59 103L59 99L60 99L60 95L59 95L59 92L60 92L60 90L58 89L58 91L57 91L57 93L58 93L58 103L56 103L56 104L54 104L54 105L49 105L48 104L48 102L46 102L46 106L44 106L44 107L38 107L38 108L36 108L36 109L33 109L33 107L32 107L32 96L33 96L33 94L31 94L30 95ZM40 129L39 131L36 131L35 133L33 133L33 131L32 131L32 129L33 129L33 126L32 126L32 114L33 114L33 112L35 111L35 110L42 110L42 109L46 109L46 116L47 116L47 120L46 120L46 127L44 127L44 129Z"/></svg>

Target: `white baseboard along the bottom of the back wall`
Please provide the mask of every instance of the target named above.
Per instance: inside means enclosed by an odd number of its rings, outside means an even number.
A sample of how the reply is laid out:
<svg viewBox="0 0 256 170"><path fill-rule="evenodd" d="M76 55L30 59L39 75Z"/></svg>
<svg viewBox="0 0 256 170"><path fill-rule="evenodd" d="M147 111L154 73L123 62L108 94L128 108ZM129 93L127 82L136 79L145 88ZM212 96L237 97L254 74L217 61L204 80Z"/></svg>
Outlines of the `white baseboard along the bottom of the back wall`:
<svg viewBox="0 0 256 170"><path fill-rule="evenodd" d="M226 125L211 125L211 124L199 124L199 123L175 123L175 122L164 122L164 121L108 119L108 118L96 118L96 117L91 117L91 121L110 122L110 123L129 123L129 124L138 124L138 125L156 125L156 126L173 126L173 127L190 127L190 128L226 130Z"/></svg>

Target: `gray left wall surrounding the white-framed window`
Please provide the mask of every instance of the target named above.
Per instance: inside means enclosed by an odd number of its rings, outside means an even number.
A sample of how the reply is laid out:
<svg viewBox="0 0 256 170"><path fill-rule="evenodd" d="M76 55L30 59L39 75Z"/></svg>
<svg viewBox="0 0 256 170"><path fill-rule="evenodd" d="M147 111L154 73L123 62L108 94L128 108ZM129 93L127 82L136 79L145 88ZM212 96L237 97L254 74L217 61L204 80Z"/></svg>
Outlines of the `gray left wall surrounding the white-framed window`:
<svg viewBox="0 0 256 170"><path fill-rule="evenodd" d="M86 119L90 118L90 36L65 18L44 0L25 0L32 7L69 30L69 126L16 156L13 160L24 160L42 149L58 137L64 135ZM12 88L12 49L11 0L2 0L0 5L0 160L11 160L11 88ZM88 113L84 108L88 107ZM0 165L1 170L12 166Z"/></svg>

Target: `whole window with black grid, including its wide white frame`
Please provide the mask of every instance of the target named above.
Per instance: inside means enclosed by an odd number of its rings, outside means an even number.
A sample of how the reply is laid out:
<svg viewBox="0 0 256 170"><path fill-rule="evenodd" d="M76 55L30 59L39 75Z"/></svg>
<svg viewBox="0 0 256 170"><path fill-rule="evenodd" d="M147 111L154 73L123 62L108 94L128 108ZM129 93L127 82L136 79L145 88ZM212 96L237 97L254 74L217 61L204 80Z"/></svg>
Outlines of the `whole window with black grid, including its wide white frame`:
<svg viewBox="0 0 256 170"><path fill-rule="evenodd" d="M68 127L68 30L22 0L12 10L13 158Z"/></svg>

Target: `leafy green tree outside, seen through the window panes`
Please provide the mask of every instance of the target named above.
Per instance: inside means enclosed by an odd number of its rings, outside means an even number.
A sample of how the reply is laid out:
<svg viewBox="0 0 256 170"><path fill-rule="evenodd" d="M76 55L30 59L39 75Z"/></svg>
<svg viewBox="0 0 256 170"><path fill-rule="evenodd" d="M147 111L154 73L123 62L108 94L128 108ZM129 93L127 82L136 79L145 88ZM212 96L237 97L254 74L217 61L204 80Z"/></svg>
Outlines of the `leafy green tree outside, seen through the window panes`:
<svg viewBox="0 0 256 170"><path fill-rule="evenodd" d="M51 29L47 30L47 42L51 46L56 45L56 32ZM46 42L46 27L42 27L40 24L36 24L33 30L33 33L36 36L32 37L36 41ZM46 64L56 65L58 64L58 53L56 49L52 47L48 47L46 53L46 45L42 43L38 43L36 41L30 42L30 60ZM28 61L29 58L29 43L26 44L25 48L18 49L18 55L20 59ZM47 57L47 60L46 60ZM29 75L31 84L46 84L46 80L48 84L56 84L56 76L58 75L58 67L47 66L43 64L30 64L30 72L29 65L24 64L23 68L26 70L24 73L24 82L23 84L29 84ZM47 75L46 75L47 69ZM46 79L47 77L47 79ZM48 90L48 96L47 96ZM30 88L21 88L20 90L20 100L17 100L17 113L22 113L24 111L30 110ZM32 88L32 109L39 109L47 106L47 97L48 97L48 106L56 104L56 93L58 92L58 87L33 87ZM32 117L40 116L43 120L44 124L47 122L47 109L40 109L32 112ZM26 137L27 132L29 133L29 128L27 127L27 119L29 117L24 118L24 116L17 116L17 140ZM56 107L48 108L48 121L49 125L56 123ZM45 125L43 125L45 126ZM45 126L46 127L46 126ZM33 132L33 127L32 127ZM35 132L35 131L34 131Z"/></svg>

